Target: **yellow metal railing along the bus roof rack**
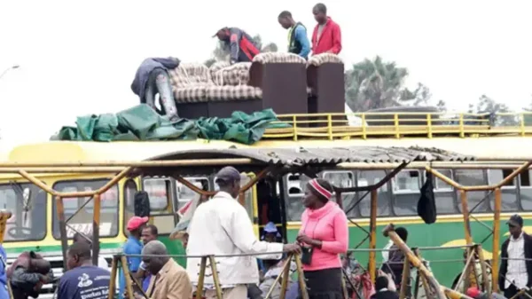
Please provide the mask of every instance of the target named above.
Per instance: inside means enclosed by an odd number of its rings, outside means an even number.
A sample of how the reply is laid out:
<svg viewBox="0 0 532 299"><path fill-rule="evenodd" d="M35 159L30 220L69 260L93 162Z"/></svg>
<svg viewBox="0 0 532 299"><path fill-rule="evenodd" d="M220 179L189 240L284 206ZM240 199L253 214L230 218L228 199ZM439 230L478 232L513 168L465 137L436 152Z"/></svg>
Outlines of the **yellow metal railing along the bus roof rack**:
<svg viewBox="0 0 532 299"><path fill-rule="evenodd" d="M375 138L532 134L532 112L279 114L263 138Z"/></svg>

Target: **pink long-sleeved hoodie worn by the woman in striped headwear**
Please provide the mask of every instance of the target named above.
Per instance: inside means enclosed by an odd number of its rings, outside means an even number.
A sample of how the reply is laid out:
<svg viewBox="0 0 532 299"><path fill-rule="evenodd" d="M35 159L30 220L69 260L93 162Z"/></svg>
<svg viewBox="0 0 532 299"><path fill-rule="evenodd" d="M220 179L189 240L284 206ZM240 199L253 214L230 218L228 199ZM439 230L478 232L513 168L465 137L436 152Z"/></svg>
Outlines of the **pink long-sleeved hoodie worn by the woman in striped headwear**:
<svg viewBox="0 0 532 299"><path fill-rule="evenodd" d="M335 202L329 201L321 209L305 209L300 233L322 241L322 248L313 248L312 260L303 264L303 270L341 268L340 254L348 251L348 217Z"/></svg>

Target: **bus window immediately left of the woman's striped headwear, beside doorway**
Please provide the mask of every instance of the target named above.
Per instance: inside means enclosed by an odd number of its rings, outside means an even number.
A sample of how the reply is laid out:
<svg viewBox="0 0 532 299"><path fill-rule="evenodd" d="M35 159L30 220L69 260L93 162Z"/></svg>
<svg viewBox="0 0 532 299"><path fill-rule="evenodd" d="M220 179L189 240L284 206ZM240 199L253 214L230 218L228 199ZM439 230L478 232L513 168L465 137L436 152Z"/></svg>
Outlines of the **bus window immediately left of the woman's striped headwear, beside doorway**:
<svg viewBox="0 0 532 299"><path fill-rule="evenodd" d="M283 177L287 221L301 220L301 214L305 210L301 199L309 180L309 177L297 173L290 173Z"/></svg>

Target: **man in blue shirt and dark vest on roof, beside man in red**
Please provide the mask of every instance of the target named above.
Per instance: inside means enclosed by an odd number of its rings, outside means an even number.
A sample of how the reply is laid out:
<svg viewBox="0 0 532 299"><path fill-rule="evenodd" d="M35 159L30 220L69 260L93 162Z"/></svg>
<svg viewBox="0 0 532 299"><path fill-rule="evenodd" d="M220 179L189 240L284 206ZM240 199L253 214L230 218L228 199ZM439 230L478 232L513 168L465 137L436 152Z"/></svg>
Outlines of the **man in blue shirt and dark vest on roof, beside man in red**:
<svg viewBox="0 0 532 299"><path fill-rule="evenodd" d="M288 52L308 59L310 42L309 36L307 36L307 28L301 22L293 20L292 13L287 11L279 14L278 22L283 28L288 30Z"/></svg>

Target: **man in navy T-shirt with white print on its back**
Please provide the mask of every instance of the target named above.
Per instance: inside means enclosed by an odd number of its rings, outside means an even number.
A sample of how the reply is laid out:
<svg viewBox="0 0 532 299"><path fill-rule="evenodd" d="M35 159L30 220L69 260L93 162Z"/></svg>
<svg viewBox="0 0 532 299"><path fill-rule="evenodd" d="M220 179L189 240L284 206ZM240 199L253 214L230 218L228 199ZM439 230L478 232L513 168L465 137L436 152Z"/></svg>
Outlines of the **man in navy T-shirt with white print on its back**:
<svg viewBox="0 0 532 299"><path fill-rule="evenodd" d="M59 279L58 298L107 298L111 272L93 265L90 251L90 244L86 242L75 242L68 248L68 271Z"/></svg>

